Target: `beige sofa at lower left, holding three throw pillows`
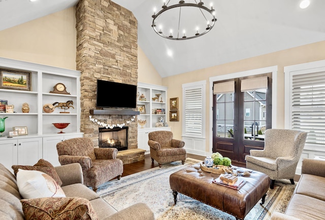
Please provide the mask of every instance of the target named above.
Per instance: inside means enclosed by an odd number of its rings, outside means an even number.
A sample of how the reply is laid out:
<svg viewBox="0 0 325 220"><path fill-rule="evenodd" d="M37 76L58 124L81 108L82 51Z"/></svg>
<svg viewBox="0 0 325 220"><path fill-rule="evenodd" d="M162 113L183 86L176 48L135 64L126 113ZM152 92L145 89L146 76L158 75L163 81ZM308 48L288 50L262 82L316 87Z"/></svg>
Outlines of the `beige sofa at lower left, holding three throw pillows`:
<svg viewBox="0 0 325 220"><path fill-rule="evenodd" d="M137 203L117 211L98 194L83 185L82 169L79 163L55 167L66 197L80 197L90 201L99 220L101 219L152 219L154 214L144 203ZM24 219L15 176L0 163L0 219Z"/></svg>

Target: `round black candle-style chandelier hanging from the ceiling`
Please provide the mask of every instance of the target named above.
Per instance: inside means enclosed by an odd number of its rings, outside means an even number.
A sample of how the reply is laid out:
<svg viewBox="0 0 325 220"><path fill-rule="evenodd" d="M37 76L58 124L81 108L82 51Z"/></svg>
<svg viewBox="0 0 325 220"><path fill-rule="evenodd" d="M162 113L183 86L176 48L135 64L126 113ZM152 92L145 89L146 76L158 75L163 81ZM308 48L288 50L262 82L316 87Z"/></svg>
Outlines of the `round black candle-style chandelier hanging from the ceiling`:
<svg viewBox="0 0 325 220"><path fill-rule="evenodd" d="M215 10L203 6L200 0L198 3L185 3L179 1L178 4L164 5L157 14L152 15L152 28L161 37L171 40L188 40L200 37L213 28L217 19L215 18ZM174 32L176 30L176 33Z"/></svg>

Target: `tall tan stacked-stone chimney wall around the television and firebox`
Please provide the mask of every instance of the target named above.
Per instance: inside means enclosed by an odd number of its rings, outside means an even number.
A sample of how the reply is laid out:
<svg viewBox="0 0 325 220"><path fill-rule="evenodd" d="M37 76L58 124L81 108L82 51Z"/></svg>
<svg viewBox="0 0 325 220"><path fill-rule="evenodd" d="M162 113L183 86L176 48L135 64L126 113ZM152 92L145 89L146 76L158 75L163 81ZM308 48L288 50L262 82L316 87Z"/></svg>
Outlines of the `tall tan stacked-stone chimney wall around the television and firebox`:
<svg viewBox="0 0 325 220"><path fill-rule="evenodd" d="M138 22L132 12L109 0L80 0L76 10L77 70L81 71L81 132L98 146L99 125L89 120L96 109L97 79L138 84ZM125 91L107 91L107 98ZM109 124L131 117L95 115ZM128 149L138 148L137 118L128 125Z"/></svg>

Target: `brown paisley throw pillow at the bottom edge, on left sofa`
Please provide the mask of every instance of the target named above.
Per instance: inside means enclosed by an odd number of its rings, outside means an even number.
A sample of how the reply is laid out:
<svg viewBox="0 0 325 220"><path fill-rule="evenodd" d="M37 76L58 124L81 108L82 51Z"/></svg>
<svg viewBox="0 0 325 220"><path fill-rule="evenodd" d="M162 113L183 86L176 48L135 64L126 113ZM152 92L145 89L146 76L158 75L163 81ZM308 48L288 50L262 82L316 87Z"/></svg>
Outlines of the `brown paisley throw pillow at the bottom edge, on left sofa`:
<svg viewBox="0 0 325 220"><path fill-rule="evenodd" d="M37 198L20 201L26 220L97 219L90 202L84 198Z"/></svg>

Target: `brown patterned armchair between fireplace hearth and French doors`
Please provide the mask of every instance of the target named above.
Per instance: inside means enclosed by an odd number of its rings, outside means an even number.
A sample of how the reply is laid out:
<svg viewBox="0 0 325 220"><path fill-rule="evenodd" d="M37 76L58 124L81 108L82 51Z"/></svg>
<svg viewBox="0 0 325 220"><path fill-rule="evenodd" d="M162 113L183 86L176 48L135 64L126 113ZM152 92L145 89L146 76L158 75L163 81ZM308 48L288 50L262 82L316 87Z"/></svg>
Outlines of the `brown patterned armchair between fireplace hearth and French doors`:
<svg viewBox="0 0 325 220"><path fill-rule="evenodd" d="M148 145L150 146L151 160L156 160L161 168L163 162L173 162L186 159L186 150L183 141L173 139L171 131L153 131L149 133Z"/></svg>

